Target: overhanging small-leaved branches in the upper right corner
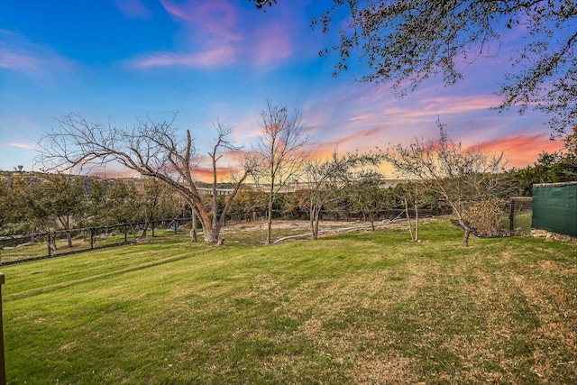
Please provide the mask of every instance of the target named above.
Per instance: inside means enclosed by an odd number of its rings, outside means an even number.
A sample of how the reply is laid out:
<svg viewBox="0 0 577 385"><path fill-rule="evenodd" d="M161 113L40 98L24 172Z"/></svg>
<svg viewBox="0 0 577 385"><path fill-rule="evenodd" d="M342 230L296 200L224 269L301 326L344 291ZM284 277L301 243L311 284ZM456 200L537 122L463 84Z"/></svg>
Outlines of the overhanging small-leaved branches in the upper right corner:
<svg viewBox="0 0 577 385"><path fill-rule="evenodd" d="M259 9L275 0L251 0ZM549 115L553 133L577 125L577 5L573 0L333 0L314 27L340 42L334 76L359 59L362 81L392 81L399 96L440 75L447 85L463 68L500 54L501 43L518 41L504 74L498 109L535 108ZM344 18L344 22L343 22Z"/></svg>

